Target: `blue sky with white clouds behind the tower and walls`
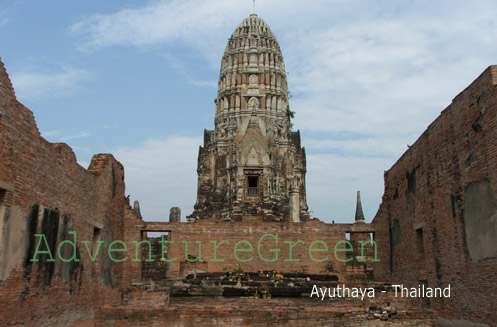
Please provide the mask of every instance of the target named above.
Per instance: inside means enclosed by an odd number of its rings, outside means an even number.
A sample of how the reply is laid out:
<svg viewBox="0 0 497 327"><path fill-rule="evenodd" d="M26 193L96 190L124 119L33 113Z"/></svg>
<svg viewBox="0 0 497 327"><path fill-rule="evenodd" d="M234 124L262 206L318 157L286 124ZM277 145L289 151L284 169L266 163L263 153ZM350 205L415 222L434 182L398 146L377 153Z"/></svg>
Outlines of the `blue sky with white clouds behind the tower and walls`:
<svg viewBox="0 0 497 327"><path fill-rule="evenodd" d="M250 0L0 0L0 57L42 135L125 166L146 220L193 210L221 56ZM495 1L258 0L285 58L310 210L367 220L388 170L487 66Z"/></svg>

